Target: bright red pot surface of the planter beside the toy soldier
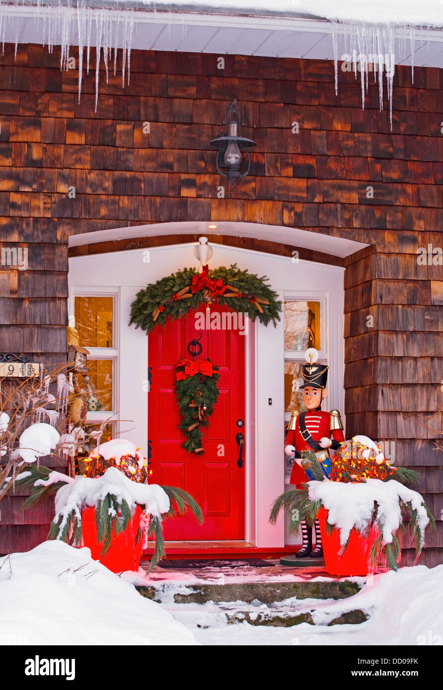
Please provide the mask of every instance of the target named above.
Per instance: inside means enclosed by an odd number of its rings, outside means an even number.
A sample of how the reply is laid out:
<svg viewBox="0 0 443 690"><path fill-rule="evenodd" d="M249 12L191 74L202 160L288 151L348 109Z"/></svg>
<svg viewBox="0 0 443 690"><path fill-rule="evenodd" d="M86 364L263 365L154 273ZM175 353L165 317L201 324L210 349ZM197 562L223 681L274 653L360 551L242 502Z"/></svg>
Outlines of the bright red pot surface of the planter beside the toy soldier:
<svg viewBox="0 0 443 690"><path fill-rule="evenodd" d="M320 532L322 533L322 544L324 553L324 564L326 571L331 575L368 575L374 573L377 567L371 564L371 549L380 535L377 528L371 528L369 534L363 537L360 532L355 529L351 531L349 543L346 551L339 556L340 546L340 531L333 529L332 534L326 534L326 520L328 511L322 508L317 520L320 525Z"/></svg>

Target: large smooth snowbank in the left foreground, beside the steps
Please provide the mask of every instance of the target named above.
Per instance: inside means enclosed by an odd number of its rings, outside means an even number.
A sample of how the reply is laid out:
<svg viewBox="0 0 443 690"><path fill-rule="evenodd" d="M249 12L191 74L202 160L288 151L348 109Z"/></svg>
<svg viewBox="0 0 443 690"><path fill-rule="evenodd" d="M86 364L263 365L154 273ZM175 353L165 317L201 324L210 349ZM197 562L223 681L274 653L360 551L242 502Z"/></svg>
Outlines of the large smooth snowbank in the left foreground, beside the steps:
<svg viewBox="0 0 443 690"><path fill-rule="evenodd" d="M0 647L6 644L197 642L89 549L51 541L0 558Z"/></svg>

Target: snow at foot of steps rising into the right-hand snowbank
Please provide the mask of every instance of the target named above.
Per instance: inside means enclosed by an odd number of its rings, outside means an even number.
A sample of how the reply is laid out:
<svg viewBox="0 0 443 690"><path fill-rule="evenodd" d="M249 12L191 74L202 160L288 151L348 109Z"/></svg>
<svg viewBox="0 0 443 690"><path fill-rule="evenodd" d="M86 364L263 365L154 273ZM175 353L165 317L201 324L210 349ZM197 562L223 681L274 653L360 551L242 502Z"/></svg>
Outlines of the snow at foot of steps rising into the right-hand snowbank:
<svg viewBox="0 0 443 690"><path fill-rule="evenodd" d="M402 568L398 573L375 575L373 582L353 597L317 602L316 607L315 626L302 623L292 628L270 628L242 623L190 629L201 644L364 646L420 645L430 644L429 640L443 644L443 566L433 569L415 566ZM358 625L327 627L327 620L337 618L351 607L362 609L371 618ZM172 607L169 610L174 613ZM210 607L206 614L206 622L210 622ZM322 619L325 625L318 624ZM202 622L200 615L199 624Z"/></svg>

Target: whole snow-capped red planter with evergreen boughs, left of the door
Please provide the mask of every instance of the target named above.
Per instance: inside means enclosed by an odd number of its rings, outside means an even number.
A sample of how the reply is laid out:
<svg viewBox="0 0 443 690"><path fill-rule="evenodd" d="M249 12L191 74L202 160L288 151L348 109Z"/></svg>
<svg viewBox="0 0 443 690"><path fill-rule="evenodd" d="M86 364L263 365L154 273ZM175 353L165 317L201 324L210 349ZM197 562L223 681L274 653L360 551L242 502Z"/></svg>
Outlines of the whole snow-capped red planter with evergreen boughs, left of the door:
<svg viewBox="0 0 443 690"><path fill-rule="evenodd" d="M115 455L119 455L117 448L121 453L137 454L139 450L129 442L108 446L108 453L106 449L105 453L114 462ZM55 495L55 517L48 539L75 546L83 542L90 546L97 560L115 573L137 570L144 542L154 538L150 572L166 555L164 518L174 517L176 509L180 515L190 510L201 524L203 514L199 504L183 489L146 484L132 475L128 477L123 467L124 457L128 455L121 455L121 466L109 467L96 477L68 477L41 465L32 465L30 471L22 473L15 482L15 488L31 490L22 509L34 508Z"/></svg>

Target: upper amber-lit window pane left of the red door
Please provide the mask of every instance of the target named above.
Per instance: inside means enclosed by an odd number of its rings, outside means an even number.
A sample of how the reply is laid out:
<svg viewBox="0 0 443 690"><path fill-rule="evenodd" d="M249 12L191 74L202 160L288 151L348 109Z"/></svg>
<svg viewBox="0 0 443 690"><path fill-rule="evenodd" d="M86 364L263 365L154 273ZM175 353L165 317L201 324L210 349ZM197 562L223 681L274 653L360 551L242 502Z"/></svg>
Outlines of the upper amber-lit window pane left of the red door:
<svg viewBox="0 0 443 690"><path fill-rule="evenodd" d="M112 347L112 297L75 297L75 328L82 347Z"/></svg>

